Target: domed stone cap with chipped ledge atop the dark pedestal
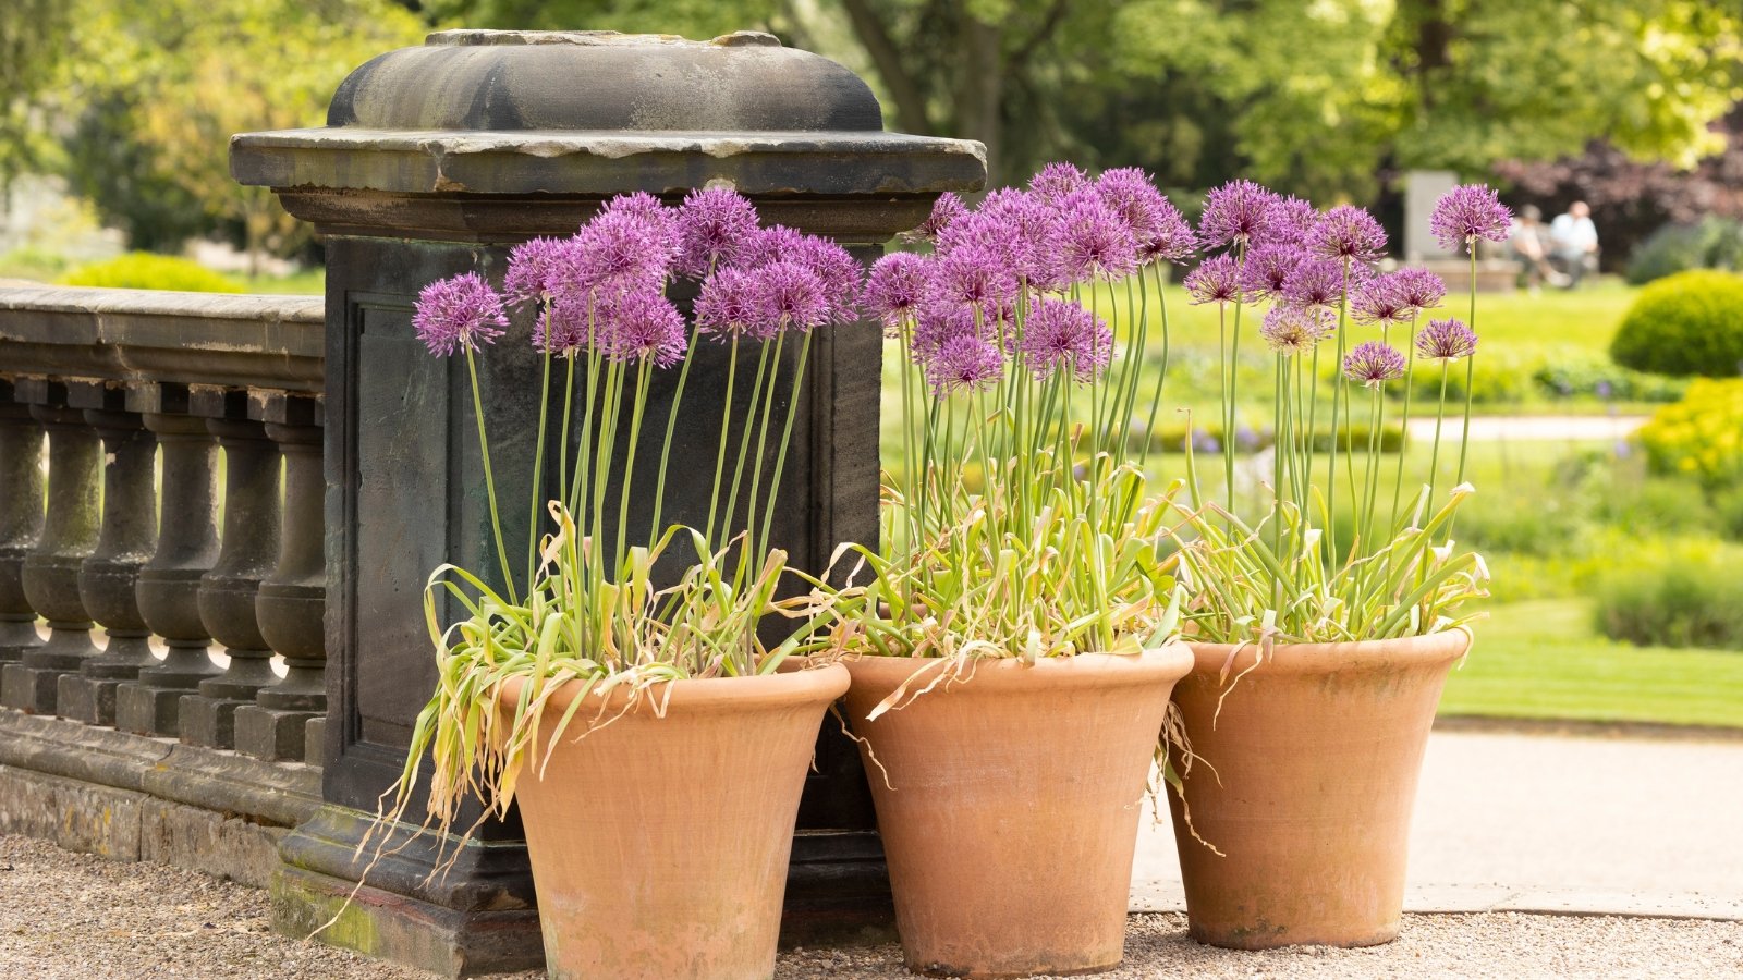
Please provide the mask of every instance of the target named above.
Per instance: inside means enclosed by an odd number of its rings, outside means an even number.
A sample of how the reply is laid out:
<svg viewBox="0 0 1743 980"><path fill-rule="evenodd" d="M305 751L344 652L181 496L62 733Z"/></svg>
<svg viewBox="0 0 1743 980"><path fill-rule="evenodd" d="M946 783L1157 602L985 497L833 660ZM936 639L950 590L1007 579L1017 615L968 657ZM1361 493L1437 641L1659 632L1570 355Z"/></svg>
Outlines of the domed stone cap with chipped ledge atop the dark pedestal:
<svg viewBox="0 0 1743 980"><path fill-rule="evenodd" d="M577 202L729 185L770 220L830 202L816 230L882 241L987 160L884 133L858 75L772 35L464 30L352 71L326 127L234 136L230 169L329 234L516 241L572 232Z"/></svg>

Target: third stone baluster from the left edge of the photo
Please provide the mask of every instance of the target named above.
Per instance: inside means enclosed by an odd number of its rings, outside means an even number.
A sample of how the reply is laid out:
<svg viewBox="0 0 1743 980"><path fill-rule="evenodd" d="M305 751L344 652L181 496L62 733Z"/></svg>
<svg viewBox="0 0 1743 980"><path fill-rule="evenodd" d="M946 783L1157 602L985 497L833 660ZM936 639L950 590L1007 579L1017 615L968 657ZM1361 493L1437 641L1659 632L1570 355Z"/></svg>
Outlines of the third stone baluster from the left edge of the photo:
<svg viewBox="0 0 1743 980"><path fill-rule="evenodd" d="M108 392L105 392L108 394ZM113 392L119 394L119 392ZM139 568L157 551L157 439L136 412L87 410L103 436L103 530L78 574L78 595L108 633L101 657L61 675L61 717L87 725L115 724L115 689L157 666L152 630L139 612Z"/></svg>

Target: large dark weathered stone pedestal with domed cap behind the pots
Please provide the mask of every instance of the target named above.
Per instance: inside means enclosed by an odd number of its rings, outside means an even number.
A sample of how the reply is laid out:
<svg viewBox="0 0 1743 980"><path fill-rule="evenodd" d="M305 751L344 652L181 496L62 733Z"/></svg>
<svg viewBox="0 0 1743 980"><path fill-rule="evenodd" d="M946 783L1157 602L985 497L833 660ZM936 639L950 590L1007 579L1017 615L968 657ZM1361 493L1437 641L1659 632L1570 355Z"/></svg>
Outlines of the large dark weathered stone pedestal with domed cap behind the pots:
<svg viewBox="0 0 1743 980"><path fill-rule="evenodd" d="M615 194L676 202L706 185L734 187L765 223L831 235L868 262L891 235L919 225L939 192L985 180L980 145L884 133L858 77L755 33L713 42L437 33L354 71L328 122L232 141L237 180L272 187L328 235L333 668L321 760L331 807L284 842L274 903L286 931L324 921L354 888L364 816L404 766L411 724L434 687L422 623L429 572L441 561L486 575L495 568L465 368L429 357L417 342L418 289L469 270L500 281L509 248L573 234ZM880 354L872 323L824 331L812 344L772 530L772 544L795 565L821 570L837 542L878 532ZM504 500L526 500L537 356L498 345L479 366L497 490ZM680 432L695 446L711 446L718 434L723 368L723 350L695 354L680 413ZM779 366L793 368L791 356ZM650 417L664 417L671 384L652 387ZM627 450L614 460L655 464ZM666 516L701 523L708 493L709 480L678 474L666 488ZM633 507L633 527L648 521L647 506ZM502 516L505 537L525 541L525 506ZM460 825L469 820L462 814ZM826 725L798 816L788 938L887 928L873 827L858 753ZM383 861L345 926L322 938L448 975L539 963L516 820L483 823L460 865L432 888L425 881L437 851L425 839Z"/></svg>

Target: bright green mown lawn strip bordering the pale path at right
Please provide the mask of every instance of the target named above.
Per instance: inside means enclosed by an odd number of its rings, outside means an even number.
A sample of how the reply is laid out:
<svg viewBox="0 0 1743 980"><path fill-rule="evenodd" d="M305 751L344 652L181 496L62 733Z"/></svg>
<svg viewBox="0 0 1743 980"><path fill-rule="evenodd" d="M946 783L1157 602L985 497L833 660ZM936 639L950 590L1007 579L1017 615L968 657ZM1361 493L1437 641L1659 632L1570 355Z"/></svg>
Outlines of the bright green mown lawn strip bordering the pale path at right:
<svg viewBox="0 0 1743 980"><path fill-rule="evenodd" d="M1443 717L1743 727L1743 652L1616 643L1577 598L1494 605L1475 630Z"/></svg>

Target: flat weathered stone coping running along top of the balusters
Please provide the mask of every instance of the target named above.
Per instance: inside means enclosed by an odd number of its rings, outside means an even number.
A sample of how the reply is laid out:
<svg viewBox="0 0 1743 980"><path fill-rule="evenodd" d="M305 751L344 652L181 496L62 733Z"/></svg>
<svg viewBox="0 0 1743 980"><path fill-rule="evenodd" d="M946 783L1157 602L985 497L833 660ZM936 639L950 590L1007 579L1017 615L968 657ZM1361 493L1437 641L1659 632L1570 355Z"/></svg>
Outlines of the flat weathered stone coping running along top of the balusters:
<svg viewBox="0 0 1743 980"><path fill-rule="evenodd" d="M0 286L0 377L321 394L326 300Z"/></svg>

